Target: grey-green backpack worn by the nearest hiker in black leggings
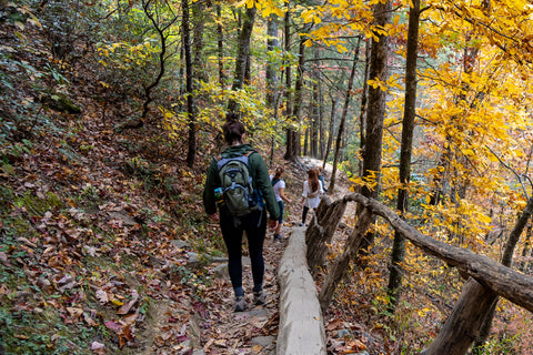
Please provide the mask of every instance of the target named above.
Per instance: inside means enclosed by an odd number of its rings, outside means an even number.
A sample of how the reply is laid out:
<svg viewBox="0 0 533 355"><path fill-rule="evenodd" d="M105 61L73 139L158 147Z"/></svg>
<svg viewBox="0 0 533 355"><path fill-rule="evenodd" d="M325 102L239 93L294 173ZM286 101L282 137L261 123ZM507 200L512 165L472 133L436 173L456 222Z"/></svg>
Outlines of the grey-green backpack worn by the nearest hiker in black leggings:
<svg viewBox="0 0 533 355"><path fill-rule="evenodd" d="M253 151L217 161L224 205L233 216L242 216L260 209L248 163L251 153Z"/></svg>

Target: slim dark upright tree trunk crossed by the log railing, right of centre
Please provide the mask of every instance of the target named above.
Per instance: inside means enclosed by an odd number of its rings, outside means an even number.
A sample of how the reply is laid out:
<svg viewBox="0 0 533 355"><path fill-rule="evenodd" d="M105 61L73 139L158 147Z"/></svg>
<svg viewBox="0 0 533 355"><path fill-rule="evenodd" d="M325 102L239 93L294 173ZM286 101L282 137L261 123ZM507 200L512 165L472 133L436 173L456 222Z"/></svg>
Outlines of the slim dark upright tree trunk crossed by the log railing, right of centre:
<svg viewBox="0 0 533 355"><path fill-rule="evenodd" d="M414 116L416 108L416 58L419 47L420 0L412 1L409 10L408 53L405 65L405 104L402 123L402 142L400 148L400 184L396 209L401 215L409 207L409 181L411 178L411 155L413 151ZM391 255L391 272L389 275L388 294L391 298L389 311L394 312L400 297L402 271L400 263L405 255L405 240L394 234Z"/></svg>

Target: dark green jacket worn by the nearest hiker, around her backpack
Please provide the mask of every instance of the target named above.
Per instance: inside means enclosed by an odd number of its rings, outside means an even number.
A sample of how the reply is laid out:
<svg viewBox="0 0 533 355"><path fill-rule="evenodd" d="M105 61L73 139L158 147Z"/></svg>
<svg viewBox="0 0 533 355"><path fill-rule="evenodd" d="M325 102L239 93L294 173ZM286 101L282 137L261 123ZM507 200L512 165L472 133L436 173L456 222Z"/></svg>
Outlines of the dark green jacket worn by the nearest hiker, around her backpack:
<svg viewBox="0 0 533 355"><path fill-rule="evenodd" d="M222 152L224 158L240 156L249 151L253 151L250 144L233 145ZM263 194L264 203L266 204L266 211L272 220L280 219L280 206L275 201L274 190L270 182L269 170L264 163L263 158L259 153L252 153L249 155L249 169L252 176L253 190L260 190ZM211 161L209 165L208 176L205 180L205 186L203 187L203 207L208 214L217 212L217 201L214 197L214 189L220 187L220 178L217 169L217 160ZM228 214L225 211L221 211L221 214Z"/></svg>

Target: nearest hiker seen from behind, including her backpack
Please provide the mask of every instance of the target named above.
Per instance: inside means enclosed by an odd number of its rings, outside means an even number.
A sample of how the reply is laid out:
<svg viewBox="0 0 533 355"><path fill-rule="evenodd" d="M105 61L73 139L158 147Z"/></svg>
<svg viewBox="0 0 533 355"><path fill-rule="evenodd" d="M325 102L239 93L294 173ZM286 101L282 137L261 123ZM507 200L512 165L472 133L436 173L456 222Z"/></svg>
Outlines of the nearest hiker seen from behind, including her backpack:
<svg viewBox="0 0 533 355"><path fill-rule="evenodd" d="M235 295L235 312L242 312L247 307L242 287L241 248L243 231L247 232L252 263L254 303L258 305L264 304L266 301L263 291L263 242L266 233L264 205L266 204L270 214L271 230L278 227L280 209L263 158L250 144L244 144L245 130L243 124L238 121L234 113L229 113L225 119L227 122L222 126L222 131L224 140L230 146L220 156L213 159L209 166L203 190L203 206L210 215L217 213L217 206L220 212L220 229L228 248L228 270ZM228 164L232 164L233 168L228 169ZM248 165L248 171L243 172L242 166L245 165ZM249 178L248 182L242 181L242 174ZM234 179L233 182L223 187L223 184L231 182L231 179ZM242 186L248 184L251 184L253 189L251 194L248 193L247 186ZM249 205L244 207L242 206L243 199L240 199L243 196L249 202ZM239 211L233 209L234 205L238 206L237 210Z"/></svg>

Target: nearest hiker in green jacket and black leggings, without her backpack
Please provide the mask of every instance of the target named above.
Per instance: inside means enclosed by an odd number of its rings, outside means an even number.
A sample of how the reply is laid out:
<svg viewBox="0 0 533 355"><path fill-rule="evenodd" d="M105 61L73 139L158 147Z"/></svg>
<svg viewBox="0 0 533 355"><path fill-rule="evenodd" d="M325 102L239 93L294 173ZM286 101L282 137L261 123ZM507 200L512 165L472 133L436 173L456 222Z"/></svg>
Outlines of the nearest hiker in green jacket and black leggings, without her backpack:
<svg viewBox="0 0 533 355"><path fill-rule="evenodd" d="M260 205L265 205L266 207L252 211L243 216L234 217L224 205L219 204L220 229L228 248L228 270L235 295L235 312L242 312L247 307L242 287L241 248L243 231L247 232L252 263L254 303L264 304L266 296L263 291L263 242L266 234L266 211L269 212L270 227L274 230L280 219L280 210L263 158L257 153L250 144L244 143L244 125L237 120L237 115L233 113L229 113L225 119L227 122L222 126L222 131L229 148L222 152L221 158L235 158L249 153L249 171L252 178L252 187L257 192L257 195L261 196L261 200L264 200L259 201ZM217 159L213 159L208 170L203 190L203 206L210 215L215 215L217 213L218 204L214 190L220 187L220 185Z"/></svg>

